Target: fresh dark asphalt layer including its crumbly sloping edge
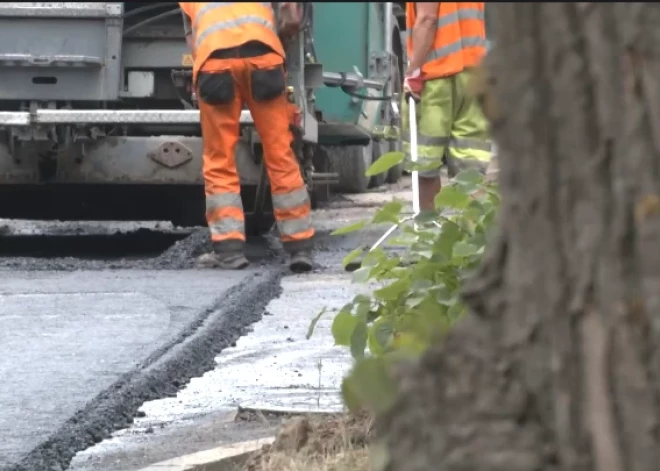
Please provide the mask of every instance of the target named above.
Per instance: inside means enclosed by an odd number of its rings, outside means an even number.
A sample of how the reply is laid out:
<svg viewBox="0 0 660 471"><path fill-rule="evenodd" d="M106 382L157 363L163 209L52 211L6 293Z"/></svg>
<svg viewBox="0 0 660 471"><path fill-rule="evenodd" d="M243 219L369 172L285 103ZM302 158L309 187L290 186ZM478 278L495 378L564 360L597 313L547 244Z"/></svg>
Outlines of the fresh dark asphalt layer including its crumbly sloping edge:
<svg viewBox="0 0 660 471"><path fill-rule="evenodd" d="M0 469L65 469L259 319L281 265L256 244L251 270L180 270L206 239L148 260L0 260Z"/></svg>

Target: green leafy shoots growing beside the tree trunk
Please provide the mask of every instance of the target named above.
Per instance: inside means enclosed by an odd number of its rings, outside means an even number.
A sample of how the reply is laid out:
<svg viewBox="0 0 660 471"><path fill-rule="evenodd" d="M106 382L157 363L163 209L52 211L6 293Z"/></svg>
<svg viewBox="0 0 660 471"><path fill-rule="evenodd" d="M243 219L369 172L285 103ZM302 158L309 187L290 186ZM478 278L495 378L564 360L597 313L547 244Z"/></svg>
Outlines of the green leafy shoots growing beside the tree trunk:
<svg viewBox="0 0 660 471"><path fill-rule="evenodd" d="M396 165L401 160L394 154L383 155L370 171L378 174ZM353 281L374 285L371 295L356 296L332 324L335 343L349 348L356 359L342 387L351 409L378 412L388 407L393 400L386 374L390 362L419 355L465 312L459 292L483 255L499 206L498 192L478 171L466 170L442 188L435 206L436 211L411 220L402 213L402 203L388 203L370 222L335 232L397 224L390 244L403 248L399 253L358 248L343 261L345 266L361 261Z"/></svg>

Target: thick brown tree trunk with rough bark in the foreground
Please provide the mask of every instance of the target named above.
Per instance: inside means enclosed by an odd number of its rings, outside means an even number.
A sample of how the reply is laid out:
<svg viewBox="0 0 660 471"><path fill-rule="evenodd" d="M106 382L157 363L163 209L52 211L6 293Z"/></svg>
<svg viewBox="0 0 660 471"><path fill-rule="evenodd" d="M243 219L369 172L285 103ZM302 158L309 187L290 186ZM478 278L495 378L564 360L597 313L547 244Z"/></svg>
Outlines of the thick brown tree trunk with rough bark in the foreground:
<svg viewBox="0 0 660 471"><path fill-rule="evenodd" d="M660 5L489 8L499 224L387 469L657 471Z"/></svg>

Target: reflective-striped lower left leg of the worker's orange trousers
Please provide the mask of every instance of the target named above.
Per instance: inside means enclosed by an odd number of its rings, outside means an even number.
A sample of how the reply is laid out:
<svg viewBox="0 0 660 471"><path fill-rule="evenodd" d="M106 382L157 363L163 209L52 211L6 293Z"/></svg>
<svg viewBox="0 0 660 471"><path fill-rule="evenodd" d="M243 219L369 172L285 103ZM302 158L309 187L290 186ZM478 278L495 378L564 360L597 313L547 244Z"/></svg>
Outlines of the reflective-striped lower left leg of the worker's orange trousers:
<svg viewBox="0 0 660 471"><path fill-rule="evenodd" d="M212 241L245 240L243 201L240 194L217 193L207 195L206 218Z"/></svg>

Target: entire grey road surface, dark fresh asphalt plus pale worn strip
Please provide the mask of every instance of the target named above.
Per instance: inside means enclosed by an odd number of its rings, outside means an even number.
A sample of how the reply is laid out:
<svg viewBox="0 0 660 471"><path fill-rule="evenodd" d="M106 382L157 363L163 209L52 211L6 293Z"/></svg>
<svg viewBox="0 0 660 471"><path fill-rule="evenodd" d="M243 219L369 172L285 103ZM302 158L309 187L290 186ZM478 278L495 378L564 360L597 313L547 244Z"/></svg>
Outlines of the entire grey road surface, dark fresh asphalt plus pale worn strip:
<svg viewBox="0 0 660 471"><path fill-rule="evenodd" d="M261 241L250 270L192 269L203 231L147 260L0 258L0 469L139 469L272 431L235 425L237 406L336 410L349 360L331 316L311 343L304 333L357 292L341 259L378 231L327 234L391 198L317 211L308 275L286 275Z"/></svg>

